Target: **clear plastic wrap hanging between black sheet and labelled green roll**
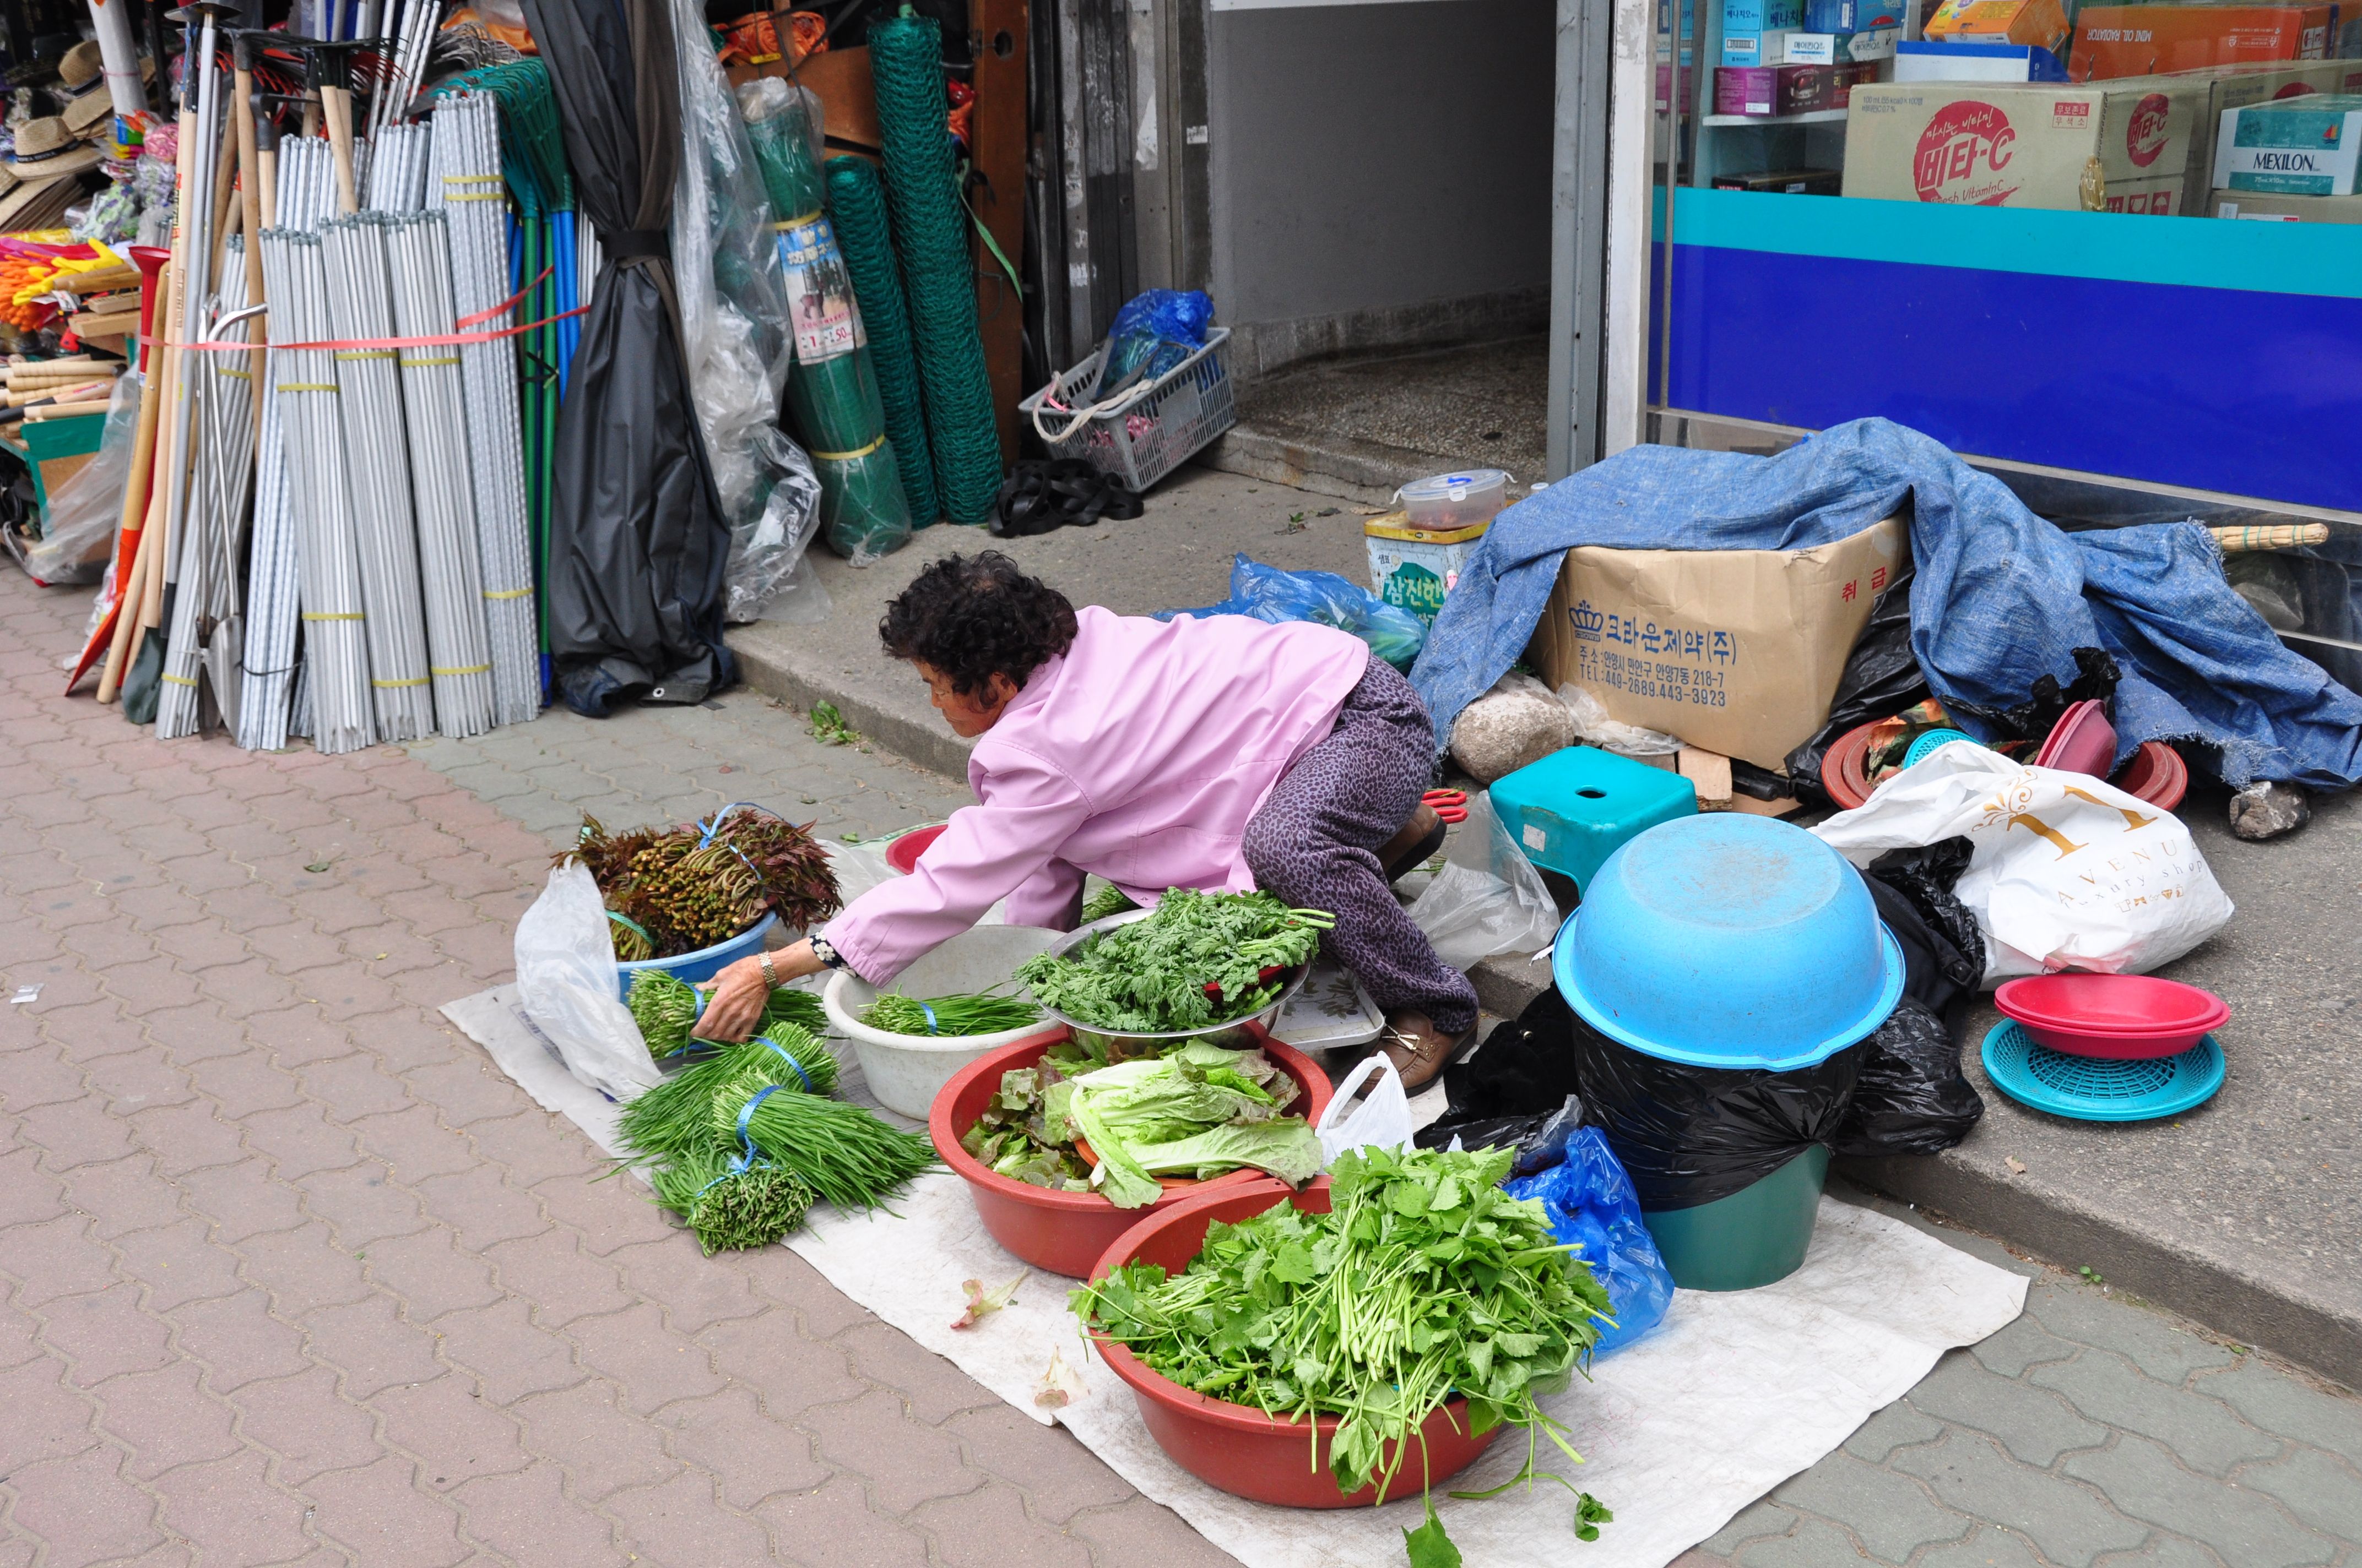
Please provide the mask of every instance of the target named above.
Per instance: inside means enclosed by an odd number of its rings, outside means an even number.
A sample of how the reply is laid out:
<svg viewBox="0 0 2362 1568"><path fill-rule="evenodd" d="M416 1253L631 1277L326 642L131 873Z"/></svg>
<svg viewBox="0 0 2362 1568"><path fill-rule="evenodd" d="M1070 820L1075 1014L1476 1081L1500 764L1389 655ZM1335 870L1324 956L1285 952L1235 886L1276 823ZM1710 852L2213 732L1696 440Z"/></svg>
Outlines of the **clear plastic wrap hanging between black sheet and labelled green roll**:
<svg viewBox="0 0 2362 1568"><path fill-rule="evenodd" d="M820 477L784 430L779 397L794 364L789 302L753 144L713 59L704 14L673 0L680 59L676 264L690 392L713 484L730 520L723 619L753 621L794 581L820 527Z"/></svg>

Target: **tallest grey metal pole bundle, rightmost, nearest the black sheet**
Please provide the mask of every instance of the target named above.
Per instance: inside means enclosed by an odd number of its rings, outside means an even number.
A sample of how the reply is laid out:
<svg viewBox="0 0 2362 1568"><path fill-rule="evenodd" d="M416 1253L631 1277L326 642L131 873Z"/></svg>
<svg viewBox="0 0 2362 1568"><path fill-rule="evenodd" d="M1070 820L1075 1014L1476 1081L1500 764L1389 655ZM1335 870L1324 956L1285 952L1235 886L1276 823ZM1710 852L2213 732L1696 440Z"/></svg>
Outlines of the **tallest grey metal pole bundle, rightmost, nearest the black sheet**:
<svg viewBox="0 0 2362 1568"><path fill-rule="evenodd" d="M435 109L428 201L451 234L451 298L482 316L508 298L508 194L501 179L501 113L489 94L449 94ZM513 312L472 331L496 333ZM468 463L475 489L477 553L484 564L484 621L491 633L494 720L517 725L541 713L541 649L534 616L534 541L524 510L524 446L517 352L508 338L458 349L468 399Z"/></svg>

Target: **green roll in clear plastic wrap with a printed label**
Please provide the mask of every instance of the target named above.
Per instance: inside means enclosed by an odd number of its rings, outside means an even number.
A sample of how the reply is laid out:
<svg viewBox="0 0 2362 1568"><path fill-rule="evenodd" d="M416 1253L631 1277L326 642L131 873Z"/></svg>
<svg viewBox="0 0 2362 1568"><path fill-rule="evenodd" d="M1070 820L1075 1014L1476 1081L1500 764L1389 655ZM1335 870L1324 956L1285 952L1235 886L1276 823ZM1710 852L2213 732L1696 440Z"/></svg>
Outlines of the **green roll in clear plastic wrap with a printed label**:
<svg viewBox="0 0 2362 1568"><path fill-rule="evenodd" d="M886 406L869 368L853 274L824 213L820 99L805 87L756 78L739 113L763 170L787 272L796 371L787 418L820 475L820 538L853 564L909 543L909 498L886 439ZM928 512L933 520L933 512Z"/></svg>

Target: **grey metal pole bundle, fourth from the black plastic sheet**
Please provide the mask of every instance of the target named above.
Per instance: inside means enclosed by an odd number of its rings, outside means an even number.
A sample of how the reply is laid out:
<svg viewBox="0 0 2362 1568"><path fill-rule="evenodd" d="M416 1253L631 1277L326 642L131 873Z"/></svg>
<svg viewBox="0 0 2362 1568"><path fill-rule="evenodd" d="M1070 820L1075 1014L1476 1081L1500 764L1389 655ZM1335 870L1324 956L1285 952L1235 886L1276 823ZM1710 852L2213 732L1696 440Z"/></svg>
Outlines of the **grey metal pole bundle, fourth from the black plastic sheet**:
<svg viewBox="0 0 2362 1568"><path fill-rule="evenodd" d="M333 170L321 165L321 175L333 201ZM281 203L286 201L288 187L281 184ZM293 229L265 234L262 276L281 342L321 342L333 335L319 236ZM274 349L272 361L272 401L286 430L302 581L305 652L291 730L309 732L321 751L359 751L378 737L371 720L361 543L345 470L335 359L326 349Z"/></svg>

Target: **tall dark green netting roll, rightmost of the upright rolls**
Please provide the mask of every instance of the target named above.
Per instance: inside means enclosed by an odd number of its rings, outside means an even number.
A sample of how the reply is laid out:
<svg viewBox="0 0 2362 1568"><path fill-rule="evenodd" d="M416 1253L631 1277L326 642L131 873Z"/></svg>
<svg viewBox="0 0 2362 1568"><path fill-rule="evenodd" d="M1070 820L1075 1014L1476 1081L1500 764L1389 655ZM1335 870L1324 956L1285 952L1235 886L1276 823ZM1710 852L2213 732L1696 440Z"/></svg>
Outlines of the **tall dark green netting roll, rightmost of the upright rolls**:
<svg viewBox="0 0 2362 1568"><path fill-rule="evenodd" d="M1001 489L1001 442L992 425L992 378L976 331L976 264L945 132L942 28L895 17L869 28L879 137L886 142L886 210L902 257L935 489L952 522L983 522Z"/></svg>

